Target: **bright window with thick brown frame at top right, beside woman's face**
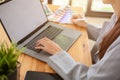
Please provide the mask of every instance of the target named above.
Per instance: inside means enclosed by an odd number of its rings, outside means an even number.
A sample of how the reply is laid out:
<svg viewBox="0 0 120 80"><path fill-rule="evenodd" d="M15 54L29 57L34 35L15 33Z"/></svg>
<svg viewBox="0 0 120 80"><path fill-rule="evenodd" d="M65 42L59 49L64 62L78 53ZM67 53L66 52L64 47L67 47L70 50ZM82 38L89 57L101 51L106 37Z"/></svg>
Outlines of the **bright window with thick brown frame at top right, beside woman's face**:
<svg viewBox="0 0 120 80"><path fill-rule="evenodd" d="M112 6L103 4L102 0L89 0L86 16L111 17L113 14Z"/></svg>

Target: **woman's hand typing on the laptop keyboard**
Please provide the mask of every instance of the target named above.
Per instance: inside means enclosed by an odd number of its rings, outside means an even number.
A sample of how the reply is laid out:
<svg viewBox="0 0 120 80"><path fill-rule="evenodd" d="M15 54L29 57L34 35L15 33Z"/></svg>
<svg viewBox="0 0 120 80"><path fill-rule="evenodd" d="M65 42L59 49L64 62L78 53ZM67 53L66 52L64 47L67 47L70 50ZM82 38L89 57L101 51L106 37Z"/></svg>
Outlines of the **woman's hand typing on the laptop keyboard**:
<svg viewBox="0 0 120 80"><path fill-rule="evenodd" d="M55 54L62 50L58 44L46 37L36 42L35 49L42 49L50 54Z"/></svg>

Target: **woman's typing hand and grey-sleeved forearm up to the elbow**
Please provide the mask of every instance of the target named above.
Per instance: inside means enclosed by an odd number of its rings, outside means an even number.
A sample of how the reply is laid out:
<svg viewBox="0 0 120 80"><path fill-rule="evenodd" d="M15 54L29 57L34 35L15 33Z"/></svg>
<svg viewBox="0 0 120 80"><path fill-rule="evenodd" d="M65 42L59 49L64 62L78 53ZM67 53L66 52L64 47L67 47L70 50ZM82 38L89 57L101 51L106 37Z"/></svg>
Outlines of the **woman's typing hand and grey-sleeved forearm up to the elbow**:
<svg viewBox="0 0 120 80"><path fill-rule="evenodd" d="M42 49L50 54L47 63L64 80L85 80L88 67L75 62L72 57L63 51L59 45L48 38L42 38L36 43L36 49Z"/></svg>

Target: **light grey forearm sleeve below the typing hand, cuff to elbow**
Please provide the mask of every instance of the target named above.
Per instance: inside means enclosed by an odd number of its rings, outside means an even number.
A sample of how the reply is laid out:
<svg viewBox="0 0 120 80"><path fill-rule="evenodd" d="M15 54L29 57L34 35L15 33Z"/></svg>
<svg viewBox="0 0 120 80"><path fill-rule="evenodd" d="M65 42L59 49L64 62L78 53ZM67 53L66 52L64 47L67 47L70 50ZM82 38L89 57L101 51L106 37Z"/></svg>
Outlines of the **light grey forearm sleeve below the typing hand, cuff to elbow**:
<svg viewBox="0 0 120 80"><path fill-rule="evenodd" d="M88 67L75 62L65 51L51 56L47 62L64 80L86 80Z"/></svg>

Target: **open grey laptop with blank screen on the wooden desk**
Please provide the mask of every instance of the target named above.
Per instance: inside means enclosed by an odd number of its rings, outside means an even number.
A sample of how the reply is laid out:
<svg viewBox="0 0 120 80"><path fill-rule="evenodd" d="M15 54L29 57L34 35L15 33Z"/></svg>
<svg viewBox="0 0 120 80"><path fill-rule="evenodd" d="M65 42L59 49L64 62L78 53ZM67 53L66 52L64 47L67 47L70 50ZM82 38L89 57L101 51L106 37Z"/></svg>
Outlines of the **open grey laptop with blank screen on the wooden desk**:
<svg viewBox="0 0 120 80"><path fill-rule="evenodd" d="M49 22L40 0L11 0L0 5L0 19L10 40L24 53L46 62L50 54L36 50L35 42L43 37L68 50L80 36L80 32Z"/></svg>

